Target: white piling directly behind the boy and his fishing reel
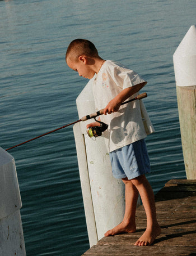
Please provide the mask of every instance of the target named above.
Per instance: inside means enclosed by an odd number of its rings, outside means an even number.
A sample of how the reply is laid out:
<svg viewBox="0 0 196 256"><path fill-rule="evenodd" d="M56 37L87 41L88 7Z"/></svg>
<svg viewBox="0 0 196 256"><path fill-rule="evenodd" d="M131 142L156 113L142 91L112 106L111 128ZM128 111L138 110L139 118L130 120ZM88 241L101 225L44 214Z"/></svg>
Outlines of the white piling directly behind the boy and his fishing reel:
<svg viewBox="0 0 196 256"><path fill-rule="evenodd" d="M78 115L81 118L95 112L91 81L76 100ZM83 203L90 246L97 243L107 230L119 224L124 215L124 184L115 179L104 138L96 140L88 137L86 124L73 126L76 141L78 167L80 171Z"/></svg>

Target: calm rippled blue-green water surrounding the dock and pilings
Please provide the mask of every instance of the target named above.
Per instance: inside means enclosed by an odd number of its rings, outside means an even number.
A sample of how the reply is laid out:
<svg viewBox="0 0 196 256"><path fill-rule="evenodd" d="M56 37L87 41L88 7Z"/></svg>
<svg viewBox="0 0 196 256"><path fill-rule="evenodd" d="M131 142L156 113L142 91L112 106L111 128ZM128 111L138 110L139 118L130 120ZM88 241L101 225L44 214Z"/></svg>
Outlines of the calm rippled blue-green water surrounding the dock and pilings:
<svg viewBox="0 0 196 256"><path fill-rule="evenodd" d="M195 0L0 1L1 144L4 149L78 119L87 80L69 70L66 47L95 43L148 85L156 133L147 138L157 192L185 178L172 55L191 25ZM87 113L89 114L89 113ZM72 127L10 150L16 161L27 256L79 256L88 249Z"/></svg>

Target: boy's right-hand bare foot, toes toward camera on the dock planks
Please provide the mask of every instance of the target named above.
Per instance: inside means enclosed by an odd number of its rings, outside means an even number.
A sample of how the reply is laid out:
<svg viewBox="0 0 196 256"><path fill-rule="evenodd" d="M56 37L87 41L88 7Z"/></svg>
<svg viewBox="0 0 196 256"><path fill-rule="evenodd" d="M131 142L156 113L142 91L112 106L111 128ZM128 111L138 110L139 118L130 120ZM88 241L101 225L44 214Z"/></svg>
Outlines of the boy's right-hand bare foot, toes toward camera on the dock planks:
<svg viewBox="0 0 196 256"><path fill-rule="evenodd" d="M146 246L152 245L153 241L155 241L156 237L161 234L160 226L147 228L143 235L137 240L134 245L138 246Z"/></svg>

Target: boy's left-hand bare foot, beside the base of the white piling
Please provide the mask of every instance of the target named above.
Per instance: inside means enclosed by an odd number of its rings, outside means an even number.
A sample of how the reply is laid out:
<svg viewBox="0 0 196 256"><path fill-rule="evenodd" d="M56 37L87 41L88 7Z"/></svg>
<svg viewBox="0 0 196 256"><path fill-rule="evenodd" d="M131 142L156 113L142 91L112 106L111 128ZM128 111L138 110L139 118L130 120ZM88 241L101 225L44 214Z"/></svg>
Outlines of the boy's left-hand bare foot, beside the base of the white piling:
<svg viewBox="0 0 196 256"><path fill-rule="evenodd" d="M114 227L112 230L108 230L104 236L114 236L119 233L133 233L136 231L136 223L133 224L125 224L121 222L118 226Z"/></svg>

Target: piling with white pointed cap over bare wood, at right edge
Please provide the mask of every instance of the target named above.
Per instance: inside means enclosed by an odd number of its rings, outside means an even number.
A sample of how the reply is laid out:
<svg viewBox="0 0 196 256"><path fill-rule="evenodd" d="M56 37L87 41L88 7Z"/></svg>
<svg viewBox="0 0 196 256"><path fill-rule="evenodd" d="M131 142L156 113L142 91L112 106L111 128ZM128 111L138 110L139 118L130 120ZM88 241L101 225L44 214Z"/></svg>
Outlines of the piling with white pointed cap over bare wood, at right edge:
<svg viewBox="0 0 196 256"><path fill-rule="evenodd" d="M196 27L173 55L181 142L187 179L196 179Z"/></svg>

